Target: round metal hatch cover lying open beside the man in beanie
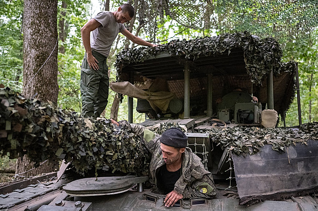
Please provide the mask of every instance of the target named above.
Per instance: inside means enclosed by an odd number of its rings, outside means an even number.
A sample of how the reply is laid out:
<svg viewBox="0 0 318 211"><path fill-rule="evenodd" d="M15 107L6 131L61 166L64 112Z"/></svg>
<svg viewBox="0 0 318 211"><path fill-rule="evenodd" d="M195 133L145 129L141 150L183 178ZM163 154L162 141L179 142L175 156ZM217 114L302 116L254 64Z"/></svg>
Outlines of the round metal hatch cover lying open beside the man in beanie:
<svg viewBox="0 0 318 211"><path fill-rule="evenodd" d="M111 195L128 191L134 184L147 181L148 177L95 177L78 179L63 187L65 192L74 196Z"/></svg>

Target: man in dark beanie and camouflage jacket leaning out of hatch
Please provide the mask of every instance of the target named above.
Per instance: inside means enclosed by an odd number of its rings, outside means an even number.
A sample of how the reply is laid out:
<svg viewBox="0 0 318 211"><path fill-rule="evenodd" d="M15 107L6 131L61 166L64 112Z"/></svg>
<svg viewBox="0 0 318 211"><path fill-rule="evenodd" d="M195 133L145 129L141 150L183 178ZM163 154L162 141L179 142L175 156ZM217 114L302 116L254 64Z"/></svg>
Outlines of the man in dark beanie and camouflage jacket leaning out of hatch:
<svg viewBox="0 0 318 211"><path fill-rule="evenodd" d="M179 199L216 196L216 186L210 172L204 169L201 159L187 148L188 137L177 127L166 130L161 136L138 124L123 120L116 122L124 129L143 136L152 154L151 182L157 193L166 194L165 206L173 206Z"/></svg>

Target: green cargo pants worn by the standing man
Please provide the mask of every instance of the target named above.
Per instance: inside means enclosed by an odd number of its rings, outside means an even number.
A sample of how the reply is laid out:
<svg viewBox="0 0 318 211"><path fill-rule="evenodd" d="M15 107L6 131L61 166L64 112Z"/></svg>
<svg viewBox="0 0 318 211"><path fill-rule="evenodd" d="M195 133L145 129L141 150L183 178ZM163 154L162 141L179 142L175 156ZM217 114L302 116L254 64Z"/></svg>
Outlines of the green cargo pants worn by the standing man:
<svg viewBox="0 0 318 211"><path fill-rule="evenodd" d="M99 69L94 71L87 63L86 53L82 62L80 89L82 95L82 116L99 117L108 103L108 66L107 57L92 50L98 61Z"/></svg>

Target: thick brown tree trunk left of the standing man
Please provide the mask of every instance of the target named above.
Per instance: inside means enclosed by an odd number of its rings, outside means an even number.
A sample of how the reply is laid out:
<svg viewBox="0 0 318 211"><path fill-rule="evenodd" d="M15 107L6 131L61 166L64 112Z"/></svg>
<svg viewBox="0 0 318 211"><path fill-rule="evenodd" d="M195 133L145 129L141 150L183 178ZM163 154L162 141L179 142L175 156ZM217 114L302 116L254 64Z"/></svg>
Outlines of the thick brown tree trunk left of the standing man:
<svg viewBox="0 0 318 211"><path fill-rule="evenodd" d="M58 0L25 0L23 16L23 94L41 102L58 101ZM45 162L33 169L24 156L17 160L17 174L34 176L54 171Z"/></svg>

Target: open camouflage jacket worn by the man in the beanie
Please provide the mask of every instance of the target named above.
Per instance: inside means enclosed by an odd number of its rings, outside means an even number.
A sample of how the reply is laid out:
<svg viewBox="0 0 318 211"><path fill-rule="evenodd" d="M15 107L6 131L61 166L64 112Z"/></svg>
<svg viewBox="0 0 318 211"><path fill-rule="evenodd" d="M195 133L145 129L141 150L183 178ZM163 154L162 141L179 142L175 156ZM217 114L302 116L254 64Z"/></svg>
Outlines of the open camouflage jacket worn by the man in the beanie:
<svg viewBox="0 0 318 211"><path fill-rule="evenodd" d="M142 125L130 124L127 121L119 122L125 129L143 137L143 142L152 154L150 161L150 182L157 187L156 173L158 169L165 165L160 148L160 135L146 129ZM190 148L186 148L182 160L182 174L175 183L174 190L182 193L183 198L191 197L215 197L216 186L210 172L204 169L201 159L192 153ZM158 193L163 193L157 189Z"/></svg>

